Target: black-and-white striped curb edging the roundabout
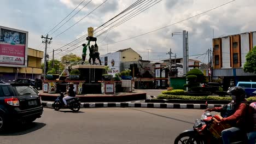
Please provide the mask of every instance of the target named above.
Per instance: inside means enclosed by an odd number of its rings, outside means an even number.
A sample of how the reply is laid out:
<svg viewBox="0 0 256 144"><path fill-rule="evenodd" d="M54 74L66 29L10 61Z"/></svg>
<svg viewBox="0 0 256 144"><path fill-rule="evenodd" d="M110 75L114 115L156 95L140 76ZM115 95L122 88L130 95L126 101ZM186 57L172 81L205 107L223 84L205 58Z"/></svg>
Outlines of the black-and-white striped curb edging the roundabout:
<svg viewBox="0 0 256 144"><path fill-rule="evenodd" d="M43 101L44 107L53 107L53 102ZM208 108L219 107L223 105L208 104ZM97 108L97 107L147 107L162 109L206 109L205 104L170 104L170 103L81 103L81 108Z"/></svg>

